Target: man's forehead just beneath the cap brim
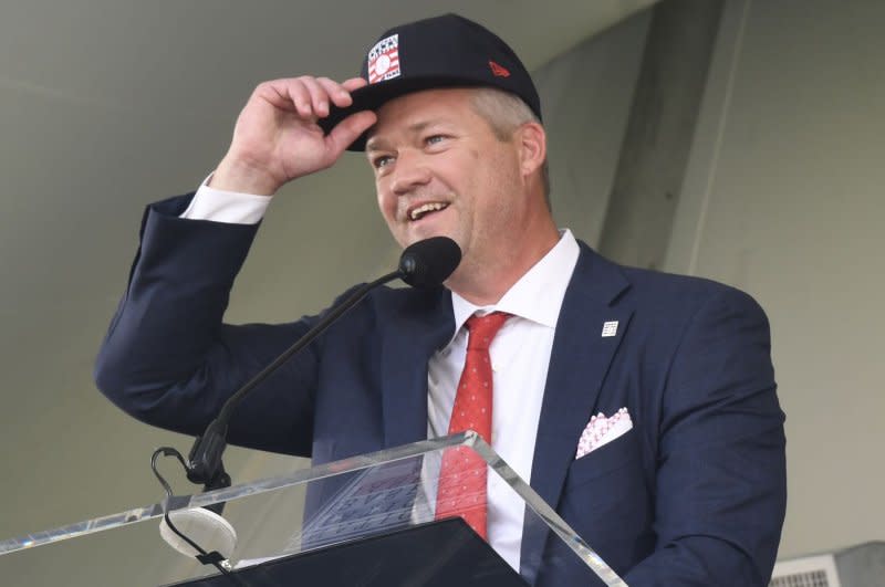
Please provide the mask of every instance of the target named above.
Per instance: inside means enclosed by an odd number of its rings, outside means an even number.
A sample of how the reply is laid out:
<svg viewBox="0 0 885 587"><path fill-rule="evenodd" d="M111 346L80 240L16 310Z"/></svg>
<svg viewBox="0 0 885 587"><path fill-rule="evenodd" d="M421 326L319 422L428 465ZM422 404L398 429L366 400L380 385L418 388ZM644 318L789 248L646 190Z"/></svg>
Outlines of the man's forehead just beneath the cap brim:
<svg viewBox="0 0 885 587"><path fill-rule="evenodd" d="M366 149L396 133L416 133L434 124L472 126L482 118L471 106L473 90L445 88L413 92L387 101L368 130Z"/></svg>

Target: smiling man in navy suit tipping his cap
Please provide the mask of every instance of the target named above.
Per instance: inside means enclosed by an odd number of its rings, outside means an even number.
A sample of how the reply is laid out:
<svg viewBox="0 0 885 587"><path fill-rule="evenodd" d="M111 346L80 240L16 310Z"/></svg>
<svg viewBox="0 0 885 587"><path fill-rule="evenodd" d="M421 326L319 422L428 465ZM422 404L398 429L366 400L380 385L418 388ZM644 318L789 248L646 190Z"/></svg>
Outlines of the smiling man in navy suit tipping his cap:
<svg viewBox="0 0 885 587"><path fill-rule="evenodd" d="M397 241L448 235L462 261L445 289L371 294L240 406L231 441L322 463L444 436L471 316L502 312L487 434L511 467L629 585L766 585L785 480L764 314L558 231L540 118L512 50L455 15L384 33L361 78L259 85L209 184L148 208L96 380L134 416L200 433L314 322L221 323L268 197L365 149ZM530 581L596 580L488 494L481 530Z"/></svg>

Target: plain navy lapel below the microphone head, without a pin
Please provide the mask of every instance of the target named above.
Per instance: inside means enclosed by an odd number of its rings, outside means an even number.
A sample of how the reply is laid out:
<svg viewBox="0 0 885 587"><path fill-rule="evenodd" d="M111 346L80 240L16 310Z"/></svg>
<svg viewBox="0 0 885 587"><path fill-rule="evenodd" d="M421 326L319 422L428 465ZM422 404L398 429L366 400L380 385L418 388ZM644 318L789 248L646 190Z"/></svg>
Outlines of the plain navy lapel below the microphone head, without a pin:
<svg viewBox="0 0 885 587"><path fill-rule="evenodd" d="M393 307L378 312L392 316L382 328L386 448L427 439L427 360L455 331L448 290L403 290L391 297Z"/></svg>

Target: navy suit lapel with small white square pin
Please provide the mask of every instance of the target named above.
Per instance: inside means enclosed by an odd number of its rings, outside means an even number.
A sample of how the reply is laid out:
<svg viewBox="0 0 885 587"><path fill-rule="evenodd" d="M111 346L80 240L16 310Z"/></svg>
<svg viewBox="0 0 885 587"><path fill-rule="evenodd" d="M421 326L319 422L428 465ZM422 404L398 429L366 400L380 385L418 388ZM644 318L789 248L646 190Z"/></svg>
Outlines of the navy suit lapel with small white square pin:
<svg viewBox="0 0 885 587"><path fill-rule="evenodd" d="M531 485L554 509L577 440L633 315L632 306L617 300L627 287L616 265L582 243L556 323L532 460ZM610 335L603 336L606 323ZM614 335L612 323L617 323ZM520 566L530 583L535 579L546 535L544 525L524 526Z"/></svg>

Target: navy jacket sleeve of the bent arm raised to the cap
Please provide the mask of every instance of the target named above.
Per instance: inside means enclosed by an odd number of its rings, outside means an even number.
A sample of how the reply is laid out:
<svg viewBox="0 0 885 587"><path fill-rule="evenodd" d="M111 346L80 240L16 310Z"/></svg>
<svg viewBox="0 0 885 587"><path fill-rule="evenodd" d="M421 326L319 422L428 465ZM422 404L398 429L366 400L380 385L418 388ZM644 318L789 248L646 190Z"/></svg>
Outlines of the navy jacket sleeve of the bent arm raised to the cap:
<svg viewBox="0 0 885 587"><path fill-rule="evenodd" d="M183 220L189 197L148 207L123 300L102 344L98 388L134 417L200 434L225 400L306 332L222 324L233 279L257 226ZM306 348L249 396L232 443L310 454L316 347ZM280 386L285 381L285 388Z"/></svg>

